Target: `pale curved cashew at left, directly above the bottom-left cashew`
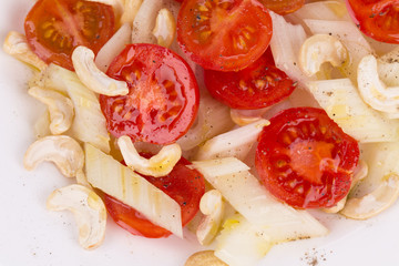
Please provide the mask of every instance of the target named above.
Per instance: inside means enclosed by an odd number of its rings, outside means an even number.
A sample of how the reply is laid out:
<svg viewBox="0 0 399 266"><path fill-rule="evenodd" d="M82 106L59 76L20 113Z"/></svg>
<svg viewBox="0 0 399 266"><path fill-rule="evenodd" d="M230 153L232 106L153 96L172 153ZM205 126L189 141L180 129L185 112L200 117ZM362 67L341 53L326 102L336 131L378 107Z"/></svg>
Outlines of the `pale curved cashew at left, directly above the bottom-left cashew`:
<svg viewBox="0 0 399 266"><path fill-rule="evenodd" d="M83 168L84 154L79 143L70 136L44 136L29 146L23 166L31 171L43 161L53 162L63 175L74 177Z"/></svg>

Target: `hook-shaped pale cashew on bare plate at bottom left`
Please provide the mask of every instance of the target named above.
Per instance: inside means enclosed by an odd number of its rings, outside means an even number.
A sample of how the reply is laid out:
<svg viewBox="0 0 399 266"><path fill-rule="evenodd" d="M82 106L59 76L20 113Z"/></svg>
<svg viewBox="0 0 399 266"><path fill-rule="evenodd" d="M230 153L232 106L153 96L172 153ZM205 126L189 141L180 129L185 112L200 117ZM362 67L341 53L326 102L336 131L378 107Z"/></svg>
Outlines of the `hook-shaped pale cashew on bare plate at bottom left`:
<svg viewBox="0 0 399 266"><path fill-rule="evenodd" d="M101 197L82 185L55 190L47 201L50 211L71 211L79 227L79 244L92 249L104 239L106 209Z"/></svg>

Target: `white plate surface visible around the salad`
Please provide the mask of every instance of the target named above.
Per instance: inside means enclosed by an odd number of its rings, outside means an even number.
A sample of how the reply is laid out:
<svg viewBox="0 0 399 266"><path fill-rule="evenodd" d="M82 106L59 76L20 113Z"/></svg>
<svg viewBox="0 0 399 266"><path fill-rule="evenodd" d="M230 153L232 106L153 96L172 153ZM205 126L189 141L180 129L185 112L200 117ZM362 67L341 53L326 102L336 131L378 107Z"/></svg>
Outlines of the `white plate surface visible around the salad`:
<svg viewBox="0 0 399 266"><path fill-rule="evenodd" d="M33 3L0 2L1 42L10 30L22 32ZM43 111L27 94L30 75L22 63L0 52L0 265L183 266L191 254L201 249L187 232L185 239L146 239L109 221L103 245L86 252L78 244L72 215L45 209L47 196L71 181L51 164L42 164L34 172L22 166L24 151L34 141L33 123ZM329 236L275 246L260 265L399 265L398 203L370 221L324 216L323 222L331 231Z"/></svg>

